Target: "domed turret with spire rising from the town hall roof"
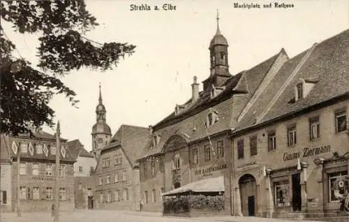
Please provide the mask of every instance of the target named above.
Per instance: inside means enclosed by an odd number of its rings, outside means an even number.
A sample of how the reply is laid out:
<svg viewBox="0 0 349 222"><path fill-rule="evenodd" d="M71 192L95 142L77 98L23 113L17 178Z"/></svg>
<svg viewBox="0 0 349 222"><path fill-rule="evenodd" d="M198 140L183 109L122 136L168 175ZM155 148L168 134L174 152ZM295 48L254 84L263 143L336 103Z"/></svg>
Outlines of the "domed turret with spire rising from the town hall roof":
<svg viewBox="0 0 349 222"><path fill-rule="evenodd" d="M228 65L228 41L219 29L219 15L217 10L216 34L209 43L210 75L203 82L205 93L209 93L212 87L220 87L229 77Z"/></svg>

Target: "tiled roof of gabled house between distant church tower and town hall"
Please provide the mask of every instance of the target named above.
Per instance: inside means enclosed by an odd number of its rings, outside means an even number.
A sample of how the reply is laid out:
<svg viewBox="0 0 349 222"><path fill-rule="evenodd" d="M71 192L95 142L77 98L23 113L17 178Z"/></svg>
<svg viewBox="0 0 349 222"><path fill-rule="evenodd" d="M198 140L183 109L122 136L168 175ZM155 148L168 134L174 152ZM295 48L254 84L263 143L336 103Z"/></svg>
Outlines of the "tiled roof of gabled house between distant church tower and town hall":
<svg viewBox="0 0 349 222"><path fill-rule="evenodd" d="M126 158L131 165L135 165L135 161L140 158L142 151L149 139L149 129L140 126L121 125L114 134L109 144L103 149L102 153L114 147L123 149Z"/></svg>

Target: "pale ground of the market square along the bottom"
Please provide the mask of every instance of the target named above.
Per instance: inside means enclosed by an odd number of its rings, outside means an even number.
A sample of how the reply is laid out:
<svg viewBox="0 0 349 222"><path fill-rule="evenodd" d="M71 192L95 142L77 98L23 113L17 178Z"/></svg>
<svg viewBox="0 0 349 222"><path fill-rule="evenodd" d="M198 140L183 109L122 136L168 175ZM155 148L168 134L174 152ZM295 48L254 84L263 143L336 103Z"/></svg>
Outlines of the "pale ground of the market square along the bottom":
<svg viewBox="0 0 349 222"><path fill-rule="evenodd" d="M1 222L50 222L54 221L50 212L36 212L36 213L22 213L21 217L17 217L15 213L2 213L0 216ZM82 221L82 222L189 222L189 221L204 221L204 222L288 222L288 221L299 221L297 219L266 219L260 217L248 217L248 216L213 216L213 217L200 217L200 218L184 218L184 217L169 217L162 216L161 213L157 212L128 212L128 211L117 211L117 210L85 210L79 209L72 212L61 212L59 221ZM323 221L323 220L313 220ZM336 222L348 222L349 217L339 220L328 220ZM302 222L310 222L303 221Z"/></svg>

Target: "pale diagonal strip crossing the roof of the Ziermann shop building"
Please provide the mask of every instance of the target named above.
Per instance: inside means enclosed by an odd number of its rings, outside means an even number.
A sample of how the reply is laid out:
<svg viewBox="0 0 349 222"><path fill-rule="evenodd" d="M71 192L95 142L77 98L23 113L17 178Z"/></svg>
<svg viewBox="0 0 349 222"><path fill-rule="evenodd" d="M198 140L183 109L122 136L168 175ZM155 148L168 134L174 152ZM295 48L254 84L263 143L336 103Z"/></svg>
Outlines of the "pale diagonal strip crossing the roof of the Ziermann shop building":
<svg viewBox="0 0 349 222"><path fill-rule="evenodd" d="M311 46L311 48L309 48L309 50L307 50L306 54L304 55L304 57L302 58L301 61L299 61L299 64L297 64L296 68L293 70L293 72L288 76L288 79L285 80L285 82L283 83L283 85L281 86L281 88L279 89L279 91L276 92L274 98L272 98L272 101L270 101L270 103L267 105L267 108L262 112L262 114L260 114L260 116L257 119L256 122L259 122L264 116L265 114L267 114L267 112L269 112L269 110L272 108L272 106L276 103L277 99L281 96L281 94L283 93L283 91L285 90L285 88L288 86L288 84L290 84L290 82L293 80L293 78L297 75L298 71L302 68L302 66L304 65L304 63L306 62L306 60L310 57L311 53L313 52L313 50L315 49L315 47L317 46L317 43L314 43L313 46Z"/></svg>

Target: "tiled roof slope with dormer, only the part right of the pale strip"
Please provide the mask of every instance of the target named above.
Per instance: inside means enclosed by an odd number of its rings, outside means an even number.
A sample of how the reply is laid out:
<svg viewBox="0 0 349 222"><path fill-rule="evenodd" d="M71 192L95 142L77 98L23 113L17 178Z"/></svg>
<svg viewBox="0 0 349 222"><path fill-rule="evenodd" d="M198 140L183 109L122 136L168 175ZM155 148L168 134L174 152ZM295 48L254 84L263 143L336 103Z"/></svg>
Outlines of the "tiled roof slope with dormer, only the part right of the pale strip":
<svg viewBox="0 0 349 222"><path fill-rule="evenodd" d="M308 59L261 122L291 114L349 91L349 29L315 46ZM299 79L318 78L309 94L295 103Z"/></svg>

